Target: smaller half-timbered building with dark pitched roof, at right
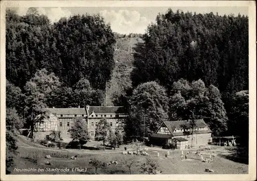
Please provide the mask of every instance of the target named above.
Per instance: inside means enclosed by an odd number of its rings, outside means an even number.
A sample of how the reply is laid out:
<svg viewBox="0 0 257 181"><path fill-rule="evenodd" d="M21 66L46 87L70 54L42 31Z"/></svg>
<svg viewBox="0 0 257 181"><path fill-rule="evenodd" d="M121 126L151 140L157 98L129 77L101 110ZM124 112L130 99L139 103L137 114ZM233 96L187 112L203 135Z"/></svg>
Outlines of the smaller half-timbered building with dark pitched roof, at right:
<svg viewBox="0 0 257 181"><path fill-rule="evenodd" d="M150 139L157 145L175 143L182 149L185 147L181 147L181 145L185 144L188 146L208 144L211 142L211 132L203 119L195 120L194 127L191 127L187 120L179 120L163 122Z"/></svg>

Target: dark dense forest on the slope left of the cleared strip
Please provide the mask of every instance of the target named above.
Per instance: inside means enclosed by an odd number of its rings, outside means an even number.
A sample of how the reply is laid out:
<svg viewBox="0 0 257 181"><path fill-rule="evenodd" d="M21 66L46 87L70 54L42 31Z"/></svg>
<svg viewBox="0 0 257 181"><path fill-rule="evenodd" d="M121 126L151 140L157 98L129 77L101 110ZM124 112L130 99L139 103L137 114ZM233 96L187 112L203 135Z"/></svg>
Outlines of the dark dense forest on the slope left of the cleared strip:
<svg viewBox="0 0 257 181"><path fill-rule="evenodd" d="M50 24L30 8L25 16L6 14L6 76L23 89L36 70L46 68L72 87L86 78L104 90L114 68L115 38L99 15L74 15Z"/></svg>

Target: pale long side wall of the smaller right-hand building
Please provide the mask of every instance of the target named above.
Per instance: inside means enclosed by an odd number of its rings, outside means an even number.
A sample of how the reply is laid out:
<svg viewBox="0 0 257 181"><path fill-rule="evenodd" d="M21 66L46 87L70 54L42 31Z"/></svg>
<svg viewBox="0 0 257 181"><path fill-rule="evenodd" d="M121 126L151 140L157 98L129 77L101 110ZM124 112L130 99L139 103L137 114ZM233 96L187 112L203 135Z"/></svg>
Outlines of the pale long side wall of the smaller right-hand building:
<svg viewBox="0 0 257 181"><path fill-rule="evenodd" d="M188 145L192 145L192 135L182 135L182 136L174 136L175 137L182 137L188 139ZM193 145L207 145L209 140L211 139L211 133L203 133L203 134L193 134Z"/></svg>

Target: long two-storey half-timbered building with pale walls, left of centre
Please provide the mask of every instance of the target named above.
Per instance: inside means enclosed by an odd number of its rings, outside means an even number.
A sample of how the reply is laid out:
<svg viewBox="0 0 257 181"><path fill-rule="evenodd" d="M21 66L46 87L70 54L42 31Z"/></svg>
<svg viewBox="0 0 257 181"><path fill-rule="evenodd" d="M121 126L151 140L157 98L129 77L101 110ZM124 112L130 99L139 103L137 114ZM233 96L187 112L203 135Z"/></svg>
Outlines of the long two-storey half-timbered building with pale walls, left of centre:
<svg viewBox="0 0 257 181"><path fill-rule="evenodd" d="M69 129L74 125L76 117L83 117L87 122L87 130L94 139L96 125L100 119L106 118L112 131L123 132L124 119L127 117L123 107L118 106L86 106L86 108L48 108L50 113L40 123L36 123L34 136L38 139L48 137L52 131L60 131L60 137L70 140Z"/></svg>

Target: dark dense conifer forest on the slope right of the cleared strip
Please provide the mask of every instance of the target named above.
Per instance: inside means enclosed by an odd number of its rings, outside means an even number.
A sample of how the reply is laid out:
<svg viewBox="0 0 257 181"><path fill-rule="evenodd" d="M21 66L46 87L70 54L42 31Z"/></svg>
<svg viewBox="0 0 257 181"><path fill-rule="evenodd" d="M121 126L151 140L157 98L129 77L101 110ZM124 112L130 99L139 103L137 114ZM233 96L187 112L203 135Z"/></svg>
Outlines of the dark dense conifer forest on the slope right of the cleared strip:
<svg viewBox="0 0 257 181"><path fill-rule="evenodd" d="M169 9L149 25L143 39L134 54L134 87L158 79L170 93L179 78L200 78L217 87L226 103L231 93L248 88L247 16Z"/></svg>

